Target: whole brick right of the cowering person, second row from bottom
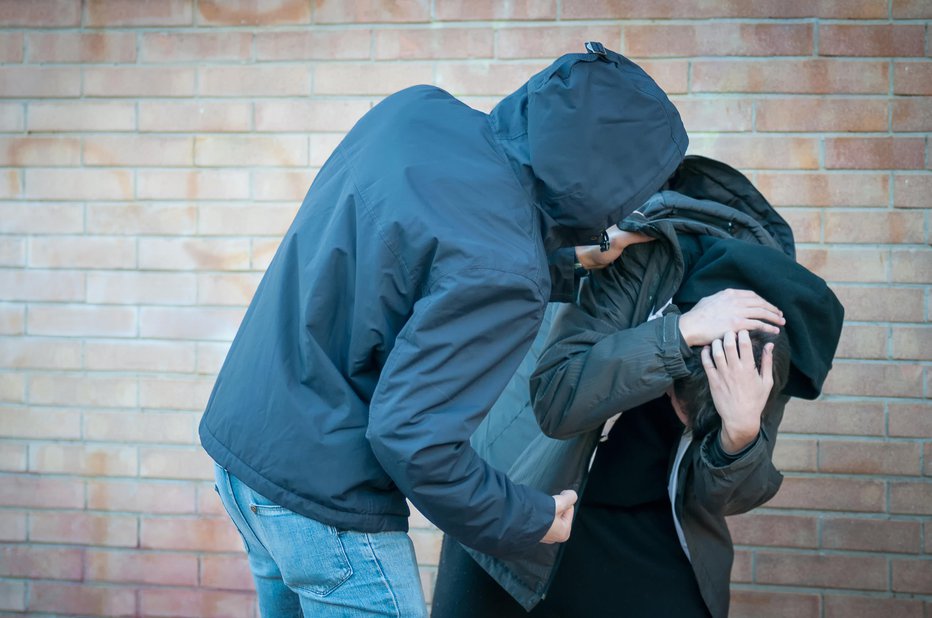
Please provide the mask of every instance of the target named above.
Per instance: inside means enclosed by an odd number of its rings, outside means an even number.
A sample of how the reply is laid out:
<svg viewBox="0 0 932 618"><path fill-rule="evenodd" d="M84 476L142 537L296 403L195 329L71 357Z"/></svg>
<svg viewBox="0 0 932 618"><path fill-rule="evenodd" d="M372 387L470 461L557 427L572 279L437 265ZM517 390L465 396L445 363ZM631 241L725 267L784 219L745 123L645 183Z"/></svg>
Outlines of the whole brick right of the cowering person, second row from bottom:
<svg viewBox="0 0 932 618"><path fill-rule="evenodd" d="M881 557L757 552L759 584L886 590L887 561Z"/></svg>

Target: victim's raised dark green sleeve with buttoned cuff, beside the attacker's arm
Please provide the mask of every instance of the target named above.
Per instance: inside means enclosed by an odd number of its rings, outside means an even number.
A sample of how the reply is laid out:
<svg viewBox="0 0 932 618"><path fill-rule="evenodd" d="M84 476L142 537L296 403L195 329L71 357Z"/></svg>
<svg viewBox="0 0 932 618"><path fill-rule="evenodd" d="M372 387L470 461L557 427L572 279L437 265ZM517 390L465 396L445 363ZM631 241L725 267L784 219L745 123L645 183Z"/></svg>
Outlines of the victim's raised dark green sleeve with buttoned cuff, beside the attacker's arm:
<svg viewBox="0 0 932 618"><path fill-rule="evenodd" d="M659 397L688 375L692 351L679 314L629 327L624 302L583 290L579 305L561 307L531 376L531 401L541 429L569 438Z"/></svg>

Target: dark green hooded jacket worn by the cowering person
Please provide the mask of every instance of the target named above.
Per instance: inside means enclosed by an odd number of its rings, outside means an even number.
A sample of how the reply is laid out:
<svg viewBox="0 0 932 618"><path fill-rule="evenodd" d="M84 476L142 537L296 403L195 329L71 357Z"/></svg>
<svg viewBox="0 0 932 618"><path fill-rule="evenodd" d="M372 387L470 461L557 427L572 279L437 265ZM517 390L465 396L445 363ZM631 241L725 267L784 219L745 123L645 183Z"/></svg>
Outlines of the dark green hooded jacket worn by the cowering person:
<svg viewBox="0 0 932 618"><path fill-rule="evenodd" d="M679 334L679 310L663 309L683 280L678 234L733 237L794 255L789 226L730 167L687 157L667 189L622 223L656 240L629 247L615 265L592 273L576 304L551 308L549 340L538 337L476 432L477 451L513 481L551 494L581 492L605 422L661 396L687 374L683 359L691 351ZM661 309L660 317L648 320ZM525 394L528 381L533 409ZM728 614L733 549L725 516L763 504L780 487L771 456L787 400L775 399L765 411L761 438L730 465L717 466L710 456L717 433L701 443L684 441L685 450L670 454L671 474L679 455L677 519L713 616ZM561 547L537 545L515 559L470 553L530 609L546 594Z"/></svg>

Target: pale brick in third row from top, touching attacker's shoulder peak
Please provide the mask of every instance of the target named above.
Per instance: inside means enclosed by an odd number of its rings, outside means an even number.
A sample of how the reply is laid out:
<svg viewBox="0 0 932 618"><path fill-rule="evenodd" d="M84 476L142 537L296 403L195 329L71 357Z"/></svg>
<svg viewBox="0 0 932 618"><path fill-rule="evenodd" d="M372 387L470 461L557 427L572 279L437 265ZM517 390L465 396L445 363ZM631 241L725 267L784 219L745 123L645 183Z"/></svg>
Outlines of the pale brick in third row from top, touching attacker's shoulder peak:
<svg viewBox="0 0 932 618"><path fill-rule="evenodd" d="M390 94L433 81L431 64L415 62L375 64L319 64L314 69L318 94Z"/></svg>

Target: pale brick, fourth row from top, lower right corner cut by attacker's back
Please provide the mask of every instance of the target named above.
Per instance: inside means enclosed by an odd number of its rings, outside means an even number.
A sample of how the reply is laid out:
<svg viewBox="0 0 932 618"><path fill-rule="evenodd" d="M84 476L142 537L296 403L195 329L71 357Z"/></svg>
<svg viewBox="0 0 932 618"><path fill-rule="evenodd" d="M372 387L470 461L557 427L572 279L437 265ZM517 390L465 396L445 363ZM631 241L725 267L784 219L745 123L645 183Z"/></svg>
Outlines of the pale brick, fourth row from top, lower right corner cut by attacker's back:
<svg viewBox="0 0 932 618"><path fill-rule="evenodd" d="M359 100L258 101L257 131L348 131L372 105Z"/></svg>

